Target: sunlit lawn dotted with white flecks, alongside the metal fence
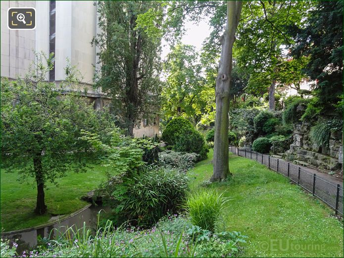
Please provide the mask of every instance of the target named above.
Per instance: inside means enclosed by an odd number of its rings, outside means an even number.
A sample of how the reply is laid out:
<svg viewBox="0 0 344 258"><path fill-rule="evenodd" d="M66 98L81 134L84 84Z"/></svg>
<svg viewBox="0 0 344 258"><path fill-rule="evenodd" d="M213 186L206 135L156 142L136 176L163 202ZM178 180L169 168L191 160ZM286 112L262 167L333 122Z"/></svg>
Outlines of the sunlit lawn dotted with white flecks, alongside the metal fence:
<svg viewBox="0 0 344 258"><path fill-rule="evenodd" d="M208 159L190 171L194 188L212 174ZM207 187L231 199L220 227L248 236L243 257L343 257L343 221L334 211L265 166L230 155L229 182Z"/></svg>

